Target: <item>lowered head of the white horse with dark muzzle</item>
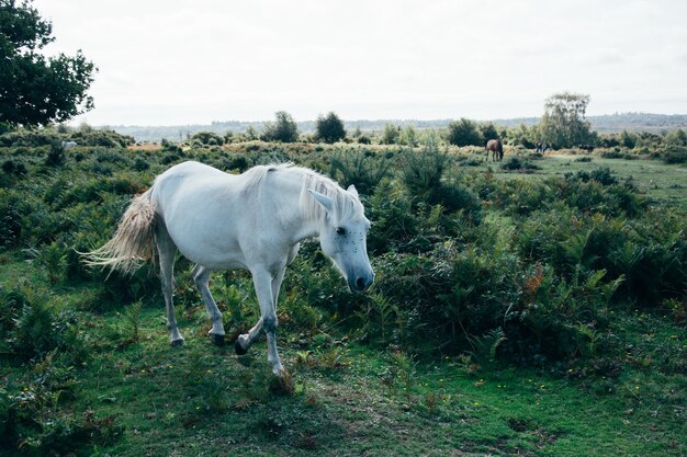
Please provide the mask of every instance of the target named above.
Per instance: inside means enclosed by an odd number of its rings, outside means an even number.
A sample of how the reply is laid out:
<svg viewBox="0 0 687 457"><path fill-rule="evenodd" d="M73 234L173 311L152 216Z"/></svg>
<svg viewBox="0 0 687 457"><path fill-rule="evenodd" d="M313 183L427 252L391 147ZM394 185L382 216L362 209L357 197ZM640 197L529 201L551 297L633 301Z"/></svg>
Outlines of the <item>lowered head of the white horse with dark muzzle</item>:
<svg viewBox="0 0 687 457"><path fill-rule="evenodd" d="M364 216L358 191L351 185L346 194L334 198L309 192L326 212L319 228L323 252L334 261L351 290L367 289L374 281L367 244L370 221Z"/></svg>

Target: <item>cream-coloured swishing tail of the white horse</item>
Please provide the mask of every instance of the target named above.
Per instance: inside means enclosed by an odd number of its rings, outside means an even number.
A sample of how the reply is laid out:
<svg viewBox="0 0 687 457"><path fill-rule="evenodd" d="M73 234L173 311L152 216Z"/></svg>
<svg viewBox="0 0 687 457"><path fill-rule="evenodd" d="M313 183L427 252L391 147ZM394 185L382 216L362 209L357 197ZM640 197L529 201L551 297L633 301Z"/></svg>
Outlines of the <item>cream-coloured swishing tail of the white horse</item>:
<svg viewBox="0 0 687 457"><path fill-rule="evenodd" d="M109 267L111 271L131 274L143 262L154 260L154 248L155 205L148 190L133 198L114 237L101 248L82 255L89 266Z"/></svg>

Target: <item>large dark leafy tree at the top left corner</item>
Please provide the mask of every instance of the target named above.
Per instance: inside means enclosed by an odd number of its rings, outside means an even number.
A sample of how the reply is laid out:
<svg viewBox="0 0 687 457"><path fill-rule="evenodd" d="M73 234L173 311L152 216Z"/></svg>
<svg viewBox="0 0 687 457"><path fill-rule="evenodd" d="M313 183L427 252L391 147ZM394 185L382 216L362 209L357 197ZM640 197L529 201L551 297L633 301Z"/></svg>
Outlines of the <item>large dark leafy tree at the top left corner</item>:
<svg viewBox="0 0 687 457"><path fill-rule="evenodd" d="M0 0L0 124L60 123L93 108L87 91L98 71L78 50L75 56L40 54L52 36L30 0Z"/></svg>

